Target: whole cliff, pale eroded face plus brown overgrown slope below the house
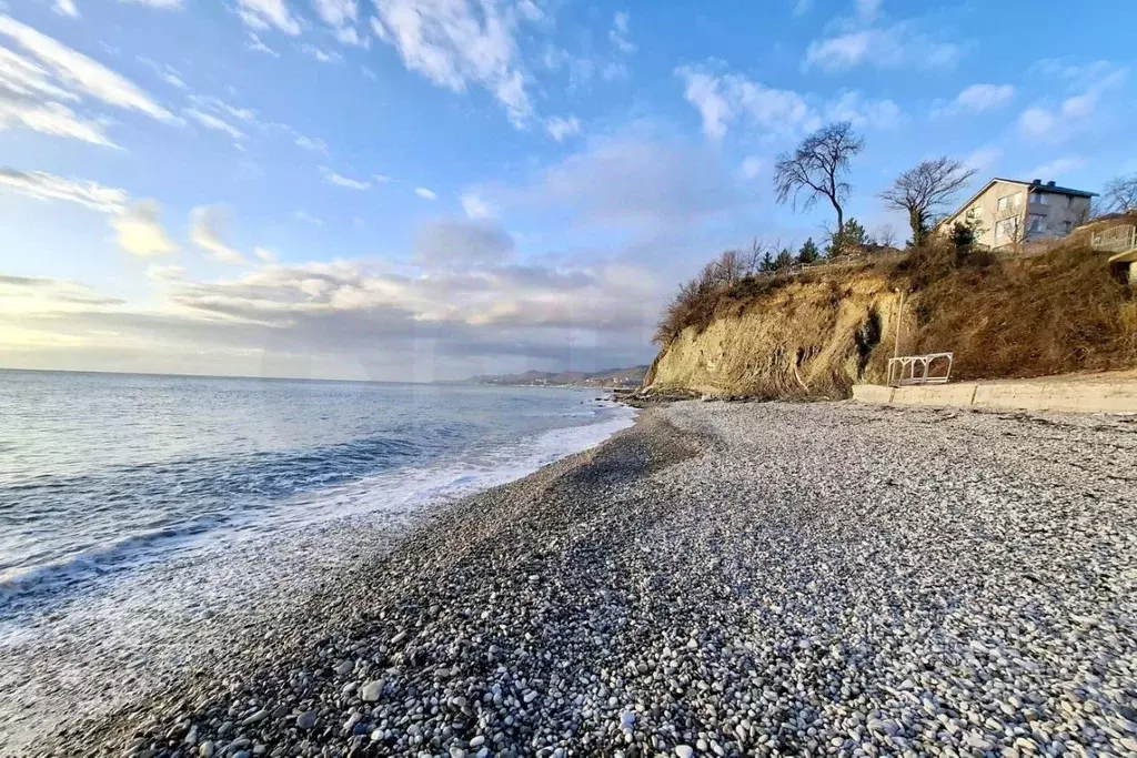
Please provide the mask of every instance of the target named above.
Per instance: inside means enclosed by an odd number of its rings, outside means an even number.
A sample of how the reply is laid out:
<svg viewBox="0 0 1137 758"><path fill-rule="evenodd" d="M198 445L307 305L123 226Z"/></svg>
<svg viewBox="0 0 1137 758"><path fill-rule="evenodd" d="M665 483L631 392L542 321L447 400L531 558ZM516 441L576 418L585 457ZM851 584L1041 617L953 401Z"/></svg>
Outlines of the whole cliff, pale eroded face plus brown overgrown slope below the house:
<svg viewBox="0 0 1137 758"><path fill-rule="evenodd" d="M901 353L954 351L953 378L1137 366L1137 303L1107 256L1071 239L1043 255L921 251L723 288L675 330L646 394L847 398ZM899 293L905 292L903 313Z"/></svg>

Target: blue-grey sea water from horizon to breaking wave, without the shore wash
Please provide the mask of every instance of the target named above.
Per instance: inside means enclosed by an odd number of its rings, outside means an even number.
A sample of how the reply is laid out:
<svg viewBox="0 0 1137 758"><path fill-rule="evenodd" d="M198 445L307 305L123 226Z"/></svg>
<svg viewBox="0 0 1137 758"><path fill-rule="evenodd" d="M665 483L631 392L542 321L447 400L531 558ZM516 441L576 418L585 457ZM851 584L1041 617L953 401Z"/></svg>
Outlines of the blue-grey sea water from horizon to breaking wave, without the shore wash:
<svg viewBox="0 0 1137 758"><path fill-rule="evenodd" d="M630 417L595 391L0 370L0 616L505 482Z"/></svg>

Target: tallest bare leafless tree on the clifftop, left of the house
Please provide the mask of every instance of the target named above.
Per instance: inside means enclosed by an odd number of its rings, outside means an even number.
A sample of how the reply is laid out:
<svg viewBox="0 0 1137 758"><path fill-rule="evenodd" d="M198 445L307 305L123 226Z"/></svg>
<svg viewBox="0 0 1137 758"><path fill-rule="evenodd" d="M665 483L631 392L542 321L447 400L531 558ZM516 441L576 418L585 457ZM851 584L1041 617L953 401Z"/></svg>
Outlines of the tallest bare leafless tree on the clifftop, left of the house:
<svg viewBox="0 0 1137 758"><path fill-rule="evenodd" d="M824 198L837 211L837 230L845 228L843 205L852 188L845 181L849 160L864 149L864 140L853 132L849 122L837 122L808 135L794 155L783 152L774 166L774 193L778 202L791 200L797 209L812 208Z"/></svg>

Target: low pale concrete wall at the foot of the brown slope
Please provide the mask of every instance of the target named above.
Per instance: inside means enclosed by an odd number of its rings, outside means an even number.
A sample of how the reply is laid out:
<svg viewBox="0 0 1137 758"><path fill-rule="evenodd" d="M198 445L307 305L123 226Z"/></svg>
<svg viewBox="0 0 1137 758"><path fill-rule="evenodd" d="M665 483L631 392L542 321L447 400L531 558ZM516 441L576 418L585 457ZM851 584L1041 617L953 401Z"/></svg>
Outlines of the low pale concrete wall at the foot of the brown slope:
<svg viewBox="0 0 1137 758"><path fill-rule="evenodd" d="M853 399L875 405L1131 414L1137 413L1137 381L962 382L901 388L858 384L853 388Z"/></svg>

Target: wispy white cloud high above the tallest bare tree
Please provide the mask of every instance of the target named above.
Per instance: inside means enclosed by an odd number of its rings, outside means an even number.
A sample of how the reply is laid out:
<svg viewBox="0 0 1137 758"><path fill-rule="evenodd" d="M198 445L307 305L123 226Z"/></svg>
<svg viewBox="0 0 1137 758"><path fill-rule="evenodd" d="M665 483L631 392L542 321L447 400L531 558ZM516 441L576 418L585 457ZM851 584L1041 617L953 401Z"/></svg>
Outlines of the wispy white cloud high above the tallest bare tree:
<svg viewBox="0 0 1137 758"><path fill-rule="evenodd" d="M806 70L840 72L868 65L874 68L947 68L961 55L958 45L937 42L920 33L911 22L887 27L857 28L814 40L805 53Z"/></svg>

